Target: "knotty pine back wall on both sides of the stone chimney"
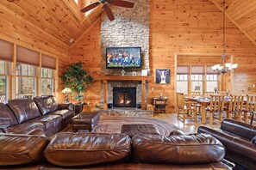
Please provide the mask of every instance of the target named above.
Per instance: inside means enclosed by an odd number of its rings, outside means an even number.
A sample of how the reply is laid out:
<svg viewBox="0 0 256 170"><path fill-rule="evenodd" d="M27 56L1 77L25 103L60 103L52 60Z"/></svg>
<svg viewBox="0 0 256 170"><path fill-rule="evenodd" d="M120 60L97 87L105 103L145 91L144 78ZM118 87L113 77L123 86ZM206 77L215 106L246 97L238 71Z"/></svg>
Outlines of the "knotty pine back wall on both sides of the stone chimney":
<svg viewBox="0 0 256 170"><path fill-rule="evenodd" d="M80 39L78 46L72 48L72 62L90 60L88 69L100 73L100 61L92 62L91 56L101 58L100 24L92 27L91 31ZM159 85L149 83L149 102L151 98L164 92L169 100L169 112L175 105L175 68L179 56L192 56L192 63L218 63L222 55L222 11L210 0L151 0L150 1L150 69L155 74L155 69L170 69L171 84ZM238 69L228 80L228 89L237 94L247 94L253 91L256 83L256 46L240 31L231 21L226 20L226 42L228 57L234 55L234 63ZM73 53L74 49L79 52ZM204 56L219 56L211 62ZM89 59L87 59L89 58ZM95 60L98 58L94 58ZM188 62L183 59L184 62ZM231 59L228 59L231 60ZM98 64L98 65L97 65ZM97 65L97 66L95 66ZM92 69L90 69L92 68ZM94 73L93 73L94 74ZM95 73L96 74L96 73ZM99 101L100 84L93 85L95 101ZM93 91L93 90L91 90ZM87 93L87 92L86 92ZM88 90L88 93L92 93ZM98 95L97 95L97 94ZM86 94L87 95L87 94ZM89 95L88 95L89 96Z"/></svg>

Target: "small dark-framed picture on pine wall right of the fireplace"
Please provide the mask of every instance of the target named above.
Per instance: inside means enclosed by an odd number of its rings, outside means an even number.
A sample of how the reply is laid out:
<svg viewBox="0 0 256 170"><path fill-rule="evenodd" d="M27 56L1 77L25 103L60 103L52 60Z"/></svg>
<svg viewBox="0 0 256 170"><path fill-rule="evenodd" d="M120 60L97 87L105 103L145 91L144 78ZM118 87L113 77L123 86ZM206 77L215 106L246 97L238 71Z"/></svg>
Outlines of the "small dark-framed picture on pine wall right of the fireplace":
<svg viewBox="0 0 256 170"><path fill-rule="evenodd" d="M155 70L155 83L157 84L170 84L170 69L156 69Z"/></svg>

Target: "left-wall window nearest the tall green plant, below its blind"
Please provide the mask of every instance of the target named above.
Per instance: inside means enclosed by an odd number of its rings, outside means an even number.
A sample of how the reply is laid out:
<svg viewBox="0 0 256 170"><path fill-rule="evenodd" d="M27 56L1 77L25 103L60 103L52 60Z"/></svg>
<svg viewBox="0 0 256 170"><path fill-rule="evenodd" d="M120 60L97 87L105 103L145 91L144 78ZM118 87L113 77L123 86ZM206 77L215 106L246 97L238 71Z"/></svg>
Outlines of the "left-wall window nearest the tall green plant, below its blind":
<svg viewBox="0 0 256 170"><path fill-rule="evenodd" d="M41 70L41 95L53 94L54 70L42 68Z"/></svg>

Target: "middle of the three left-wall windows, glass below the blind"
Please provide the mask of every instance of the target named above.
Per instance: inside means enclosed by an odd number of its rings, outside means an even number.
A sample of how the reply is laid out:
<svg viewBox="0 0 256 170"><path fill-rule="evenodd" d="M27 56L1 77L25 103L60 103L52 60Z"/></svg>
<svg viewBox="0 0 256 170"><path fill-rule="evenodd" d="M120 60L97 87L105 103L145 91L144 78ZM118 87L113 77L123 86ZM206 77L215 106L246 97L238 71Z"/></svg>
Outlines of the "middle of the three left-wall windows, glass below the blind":
<svg viewBox="0 0 256 170"><path fill-rule="evenodd" d="M16 64L16 98L33 98L36 91L36 69L29 64Z"/></svg>

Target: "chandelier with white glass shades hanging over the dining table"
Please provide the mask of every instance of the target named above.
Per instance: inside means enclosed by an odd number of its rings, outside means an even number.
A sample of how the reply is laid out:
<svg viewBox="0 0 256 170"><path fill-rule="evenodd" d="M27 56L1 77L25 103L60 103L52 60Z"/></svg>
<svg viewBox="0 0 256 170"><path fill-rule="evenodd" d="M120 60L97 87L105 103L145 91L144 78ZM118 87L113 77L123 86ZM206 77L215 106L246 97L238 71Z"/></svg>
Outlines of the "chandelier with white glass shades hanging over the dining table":
<svg viewBox="0 0 256 170"><path fill-rule="evenodd" d="M228 73L228 72L233 72L238 64L232 64L232 63L225 63L225 58L226 58L226 46L225 46L225 0L223 1L223 53L222 53L222 58L221 58L221 63L220 64L215 64L214 66L211 67L212 70L217 71L218 73Z"/></svg>

